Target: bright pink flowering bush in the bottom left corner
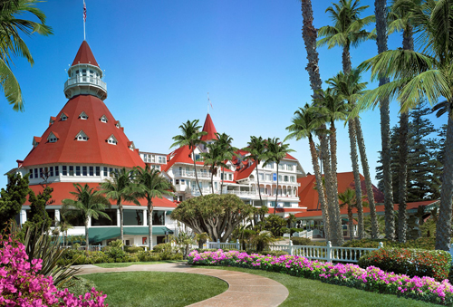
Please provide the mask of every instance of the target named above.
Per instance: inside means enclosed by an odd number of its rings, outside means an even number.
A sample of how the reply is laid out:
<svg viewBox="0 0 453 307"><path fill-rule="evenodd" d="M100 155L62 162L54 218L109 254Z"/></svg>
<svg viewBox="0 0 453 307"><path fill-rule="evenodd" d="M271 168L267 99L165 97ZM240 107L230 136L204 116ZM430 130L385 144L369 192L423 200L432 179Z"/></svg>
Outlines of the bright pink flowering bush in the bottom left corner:
<svg viewBox="0 0 453 307"><path fill-rule="evenodd" d="M58 290L53 285L52 276L44 277L37 272L42 268L43 260L28 261L24 245L13 246L12 239L3 242L0 249L0 305L1 306L106 306L107 295L92 288L84 297L74 297L68 289Z"/></svg>

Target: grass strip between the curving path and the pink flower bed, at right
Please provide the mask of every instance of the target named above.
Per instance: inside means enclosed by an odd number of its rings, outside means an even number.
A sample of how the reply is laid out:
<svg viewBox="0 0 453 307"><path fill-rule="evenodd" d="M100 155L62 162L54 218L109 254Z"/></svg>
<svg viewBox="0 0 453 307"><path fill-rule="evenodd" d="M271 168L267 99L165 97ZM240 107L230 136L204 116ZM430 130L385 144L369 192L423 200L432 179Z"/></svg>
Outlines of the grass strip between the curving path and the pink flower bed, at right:
<svg viewBox="0 0 453 307"><path fill-rule="evenodd" d="M198 268L219 269L253 273L282 283L289 291L288 298L280 305L293 306L391 306L391 307L422 307L437 306L429 302L419 302L396 295L370 293L345 286L322 283L311 279L294 277L284 273L273 273L259 270L224 266L194 266Z"/></svg>

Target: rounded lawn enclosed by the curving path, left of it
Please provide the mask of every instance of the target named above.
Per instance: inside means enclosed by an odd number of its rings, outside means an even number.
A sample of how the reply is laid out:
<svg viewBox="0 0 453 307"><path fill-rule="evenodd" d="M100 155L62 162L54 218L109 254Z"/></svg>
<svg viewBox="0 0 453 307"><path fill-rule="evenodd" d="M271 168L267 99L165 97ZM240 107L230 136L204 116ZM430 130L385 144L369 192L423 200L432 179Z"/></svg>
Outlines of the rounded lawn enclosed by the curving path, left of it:
<svg viewBox="0 0 453 307"><path fill-rule="evenodd" d="M192 273L122 272L83 275L96 290L107 294L106 303L115 306L187 306L207 300L228 288L227 283Z"/></svg>

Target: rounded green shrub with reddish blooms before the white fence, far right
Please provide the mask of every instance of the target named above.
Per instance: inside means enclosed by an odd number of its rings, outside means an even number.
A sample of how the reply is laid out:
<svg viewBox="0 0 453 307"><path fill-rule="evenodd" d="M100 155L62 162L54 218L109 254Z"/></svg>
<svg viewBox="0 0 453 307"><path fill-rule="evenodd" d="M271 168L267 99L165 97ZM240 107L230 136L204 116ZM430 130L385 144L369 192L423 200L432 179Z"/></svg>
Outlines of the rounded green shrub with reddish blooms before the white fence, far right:
<svg viewBox="0 0 453 307"><path fill-rule="evenodd" d="M429 276L439 282L448 278L451 255L445 251L417 249L381 248L361 256L359 265L379 267L386 272L402 273L410 276Z"/></svg>

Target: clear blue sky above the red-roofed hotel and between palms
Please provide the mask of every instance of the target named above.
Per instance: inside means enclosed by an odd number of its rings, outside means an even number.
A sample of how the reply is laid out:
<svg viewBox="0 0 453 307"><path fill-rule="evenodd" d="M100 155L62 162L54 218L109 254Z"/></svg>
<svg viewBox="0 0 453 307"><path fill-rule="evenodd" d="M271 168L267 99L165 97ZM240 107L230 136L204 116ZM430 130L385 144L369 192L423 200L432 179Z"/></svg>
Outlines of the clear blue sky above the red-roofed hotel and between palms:
<svg viewBox="0 0 453 307"><path fill-rule="evenodd" d="M374 1L361 1L371 7ZM218 132L226 132L236 147L251 135L284 139L294 110L311 100L305 71L300 3L272 0L119 1L86 0L86 40L105 70L112 115L125 127L140 150L168 153L171 138L186 120L207 115ZM332 24L324 13L331 1L313 1L314 25ZM0 171L5 174L32 149L49 117L63 108L65 69L83 40L82 0L48 1L38 5L47 15L53 35L25 39L34 67L15 60L25 111L14 112L0 95ZM390 36L389 48L401 44ZM323 80L342 69L340 48L318 49ZM352 50L352 65L377 53L375 42ZM369 75L364 76L369 81ZM370 84L370 88L375 84ZM391 104L391 125L398 107ZM376 180L377 151L381 149L379 110L361 115L371 177ZM446 122L430 118L435 126ZM351 171L347 130L337 124L338 171ZM290 141L307 172L313 172L306 140ZM5 187L6 178L0 179Z"/></svg>

